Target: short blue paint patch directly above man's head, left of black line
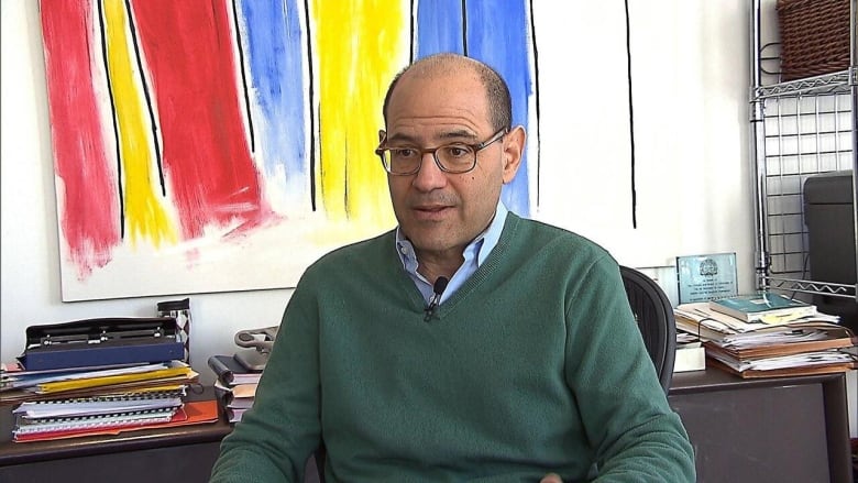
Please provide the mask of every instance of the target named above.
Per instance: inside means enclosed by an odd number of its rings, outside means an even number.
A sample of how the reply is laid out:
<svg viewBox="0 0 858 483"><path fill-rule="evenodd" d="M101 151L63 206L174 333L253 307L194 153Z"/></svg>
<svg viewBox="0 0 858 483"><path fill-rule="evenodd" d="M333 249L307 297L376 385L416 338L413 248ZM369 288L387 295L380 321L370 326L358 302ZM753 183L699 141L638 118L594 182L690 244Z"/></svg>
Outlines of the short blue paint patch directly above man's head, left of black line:
<svg viewBox="0 0 858 483"><path fill-rule="evenodd" d="M462 0L418 1L416 15L417 58L439 52L464 54Z"/></svg>

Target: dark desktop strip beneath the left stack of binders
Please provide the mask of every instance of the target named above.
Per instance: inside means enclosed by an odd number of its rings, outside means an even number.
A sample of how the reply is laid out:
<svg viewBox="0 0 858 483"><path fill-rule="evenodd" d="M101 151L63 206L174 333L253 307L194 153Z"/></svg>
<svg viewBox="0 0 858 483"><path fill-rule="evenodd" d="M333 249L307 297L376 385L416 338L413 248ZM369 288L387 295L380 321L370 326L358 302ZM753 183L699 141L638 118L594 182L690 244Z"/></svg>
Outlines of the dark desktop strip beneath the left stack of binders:
<svg viewBox="0 0 858 483"><path fill-rule="evenodd" d="M213 399L211 387L202 391L189 391L188 400ZM229 435L232 427L221 415L218 421L177 426L160 429L138 429L121 432L116 436L91 436L68 438L56 441L12 442L12 425L14 420L10 410L0 410L0 466L59 458L86 457L94 454L114 453L120 451L139 451L151 448L194 444L198 442L220 441Z"/></svg>

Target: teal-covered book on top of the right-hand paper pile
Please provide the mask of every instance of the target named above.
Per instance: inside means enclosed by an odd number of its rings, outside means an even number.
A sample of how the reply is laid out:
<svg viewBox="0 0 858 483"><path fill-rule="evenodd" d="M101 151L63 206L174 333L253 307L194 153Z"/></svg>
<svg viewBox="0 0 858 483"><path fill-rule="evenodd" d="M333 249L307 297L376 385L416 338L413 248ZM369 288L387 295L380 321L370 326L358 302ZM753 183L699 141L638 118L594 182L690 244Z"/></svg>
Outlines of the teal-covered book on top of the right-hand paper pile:
<svg viewBox="0 0 858 483"><path fill-rule="evenodd" d="M816 306L790 297L761 293L710 300L710 308L746 322L785 323L816 314Z"/></svg>

